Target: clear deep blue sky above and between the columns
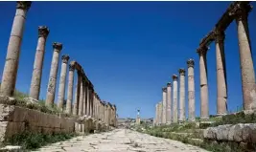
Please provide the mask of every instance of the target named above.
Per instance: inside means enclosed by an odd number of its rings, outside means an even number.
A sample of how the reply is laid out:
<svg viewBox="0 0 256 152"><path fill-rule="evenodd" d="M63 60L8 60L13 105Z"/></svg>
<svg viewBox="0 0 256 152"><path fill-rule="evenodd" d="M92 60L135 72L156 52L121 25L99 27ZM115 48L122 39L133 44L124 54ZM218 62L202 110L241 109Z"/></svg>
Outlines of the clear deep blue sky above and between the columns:
<svg viewBox="0 0 256 152"><path fill-rule="evenodd" d="M37 27L48 26L40 98L46 97L52 43L63 44L61 54L81 63L100 97L115 103L120 117L154 116L161 88L172 81L186 60L195 59L196 113L199 116L199 67L196 49L230 2L34 2L27 15L16 88L29 93ZM252 5L256 6L255 2ZM2 77L15 2L0 2L0 75ZM249 14L255 58L256 11ZM242 84L236 23L225 39L228 109L242 105ZM215 44L207 54L210 114L217 111ZM254 64L255 67L255 64ZM60 60L58 78L60 73ZM59 81L59 79L58 79ZM186 77L187 81L187 77ZM187 90L187 82L186 82ZM58 84L57 84L58 93ZM187 95L187 93L186 93ZM56 100L57 100L56 96ZM187 98L186 98L187 108Z"/></svg>

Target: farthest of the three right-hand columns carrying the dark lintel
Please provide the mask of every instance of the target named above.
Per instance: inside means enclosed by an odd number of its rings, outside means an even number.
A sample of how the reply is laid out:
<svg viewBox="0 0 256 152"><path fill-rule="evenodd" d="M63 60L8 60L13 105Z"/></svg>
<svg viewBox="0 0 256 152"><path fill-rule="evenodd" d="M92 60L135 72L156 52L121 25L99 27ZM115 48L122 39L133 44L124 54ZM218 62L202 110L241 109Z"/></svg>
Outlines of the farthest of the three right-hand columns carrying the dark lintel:
<svg viewBox="0 0 256 152"><path fill-rule="evenodd" d="M198 49L199 67L200 67L200 120L209 119L209 103L208 103L208 80L207 80L207 61L206 53L208 48L202 47Z"/></svg>

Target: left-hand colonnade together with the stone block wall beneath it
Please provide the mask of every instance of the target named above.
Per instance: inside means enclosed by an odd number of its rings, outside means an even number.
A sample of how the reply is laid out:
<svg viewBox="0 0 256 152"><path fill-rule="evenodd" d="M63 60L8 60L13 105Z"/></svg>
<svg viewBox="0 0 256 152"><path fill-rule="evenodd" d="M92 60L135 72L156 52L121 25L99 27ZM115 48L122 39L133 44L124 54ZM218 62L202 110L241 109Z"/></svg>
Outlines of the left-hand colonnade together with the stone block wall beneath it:
<svg viewBox="0 0 256 152"><path fill-rule="evenodd" d="M53 58L49 74L45 105L38 101L41 86L42 67L45 45L50 30L46 26L38 27L38 40L35 51L35 63L31 80L29 98L18 100L13 98L19 64L19 54L27 13L32 2L18 1L13 19L12 32L8 45L7 57L0 89L0 142L24 131L35 133L85 133L110 130L116 127L117 108L104 101L96 93L92 82L86 76L81 64L69 62L72 56L61 55L61 72L58 86L58 111L55 107L58 60L62 44L53 43ZM68 70L68 85L66 75ZM74 72L77 72L75 98L73 98ZM65 90L67 100L64 106Z"/></svg>

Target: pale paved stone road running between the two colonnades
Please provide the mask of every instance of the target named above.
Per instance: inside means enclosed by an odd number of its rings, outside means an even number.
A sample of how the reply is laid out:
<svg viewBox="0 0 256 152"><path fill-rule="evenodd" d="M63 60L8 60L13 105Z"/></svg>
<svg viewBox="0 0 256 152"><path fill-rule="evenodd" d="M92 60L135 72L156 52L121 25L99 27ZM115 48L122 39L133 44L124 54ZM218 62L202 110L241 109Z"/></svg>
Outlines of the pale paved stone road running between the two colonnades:
<svg viewBox="0 0 256 152"><path fill-rule="evenodd" d="M43 152L206 152L196 146L152 137L127 129L92 134L44 146Z"/></svg>

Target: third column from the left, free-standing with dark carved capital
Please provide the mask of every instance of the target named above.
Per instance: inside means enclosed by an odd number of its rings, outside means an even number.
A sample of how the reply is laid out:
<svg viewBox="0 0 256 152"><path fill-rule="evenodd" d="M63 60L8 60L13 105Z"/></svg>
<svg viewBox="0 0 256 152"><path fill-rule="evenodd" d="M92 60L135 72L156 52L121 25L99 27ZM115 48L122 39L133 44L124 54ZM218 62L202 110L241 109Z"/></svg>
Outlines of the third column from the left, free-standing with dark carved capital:
<svg viewBox="0 0 256 152"><path fill-rule="evenodd" d="M53 43L54 54L51 64L51 71L49 76L47 95L46 95L46 105L53 105L55 101L55 92L56 92L56 80L58 74L58 57L62 49L62 44L55 42Z"/></svg>

